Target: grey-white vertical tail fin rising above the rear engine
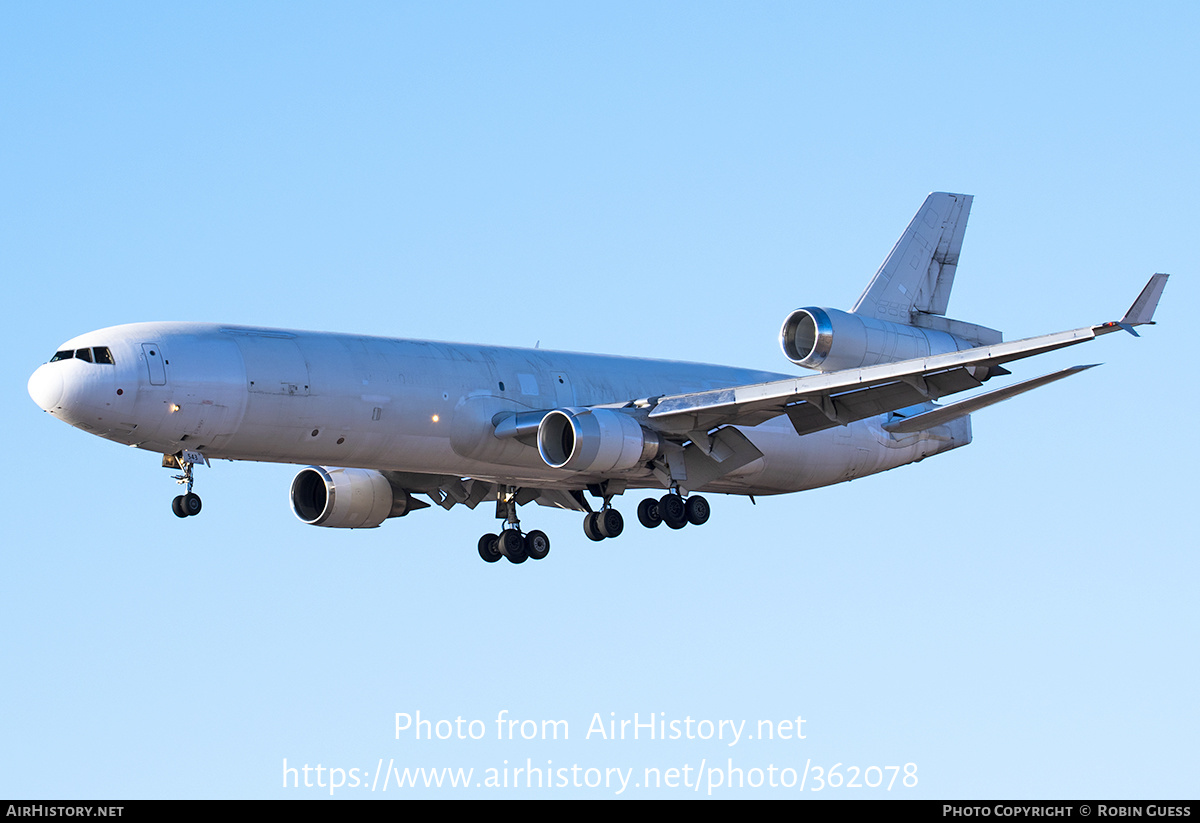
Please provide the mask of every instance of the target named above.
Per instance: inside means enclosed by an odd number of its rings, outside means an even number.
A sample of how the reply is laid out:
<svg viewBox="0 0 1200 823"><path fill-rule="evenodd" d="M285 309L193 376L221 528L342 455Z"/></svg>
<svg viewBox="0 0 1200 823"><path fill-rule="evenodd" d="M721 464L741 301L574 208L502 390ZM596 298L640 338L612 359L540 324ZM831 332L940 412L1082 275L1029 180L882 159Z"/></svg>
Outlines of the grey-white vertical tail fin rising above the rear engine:
<svg viewBox="0 0 1200 823"><path fill-rule="evenodd" d="M946 314L972 199L948 192L926 197L851 312L904 324L913 324L918 312Z"/></svg>

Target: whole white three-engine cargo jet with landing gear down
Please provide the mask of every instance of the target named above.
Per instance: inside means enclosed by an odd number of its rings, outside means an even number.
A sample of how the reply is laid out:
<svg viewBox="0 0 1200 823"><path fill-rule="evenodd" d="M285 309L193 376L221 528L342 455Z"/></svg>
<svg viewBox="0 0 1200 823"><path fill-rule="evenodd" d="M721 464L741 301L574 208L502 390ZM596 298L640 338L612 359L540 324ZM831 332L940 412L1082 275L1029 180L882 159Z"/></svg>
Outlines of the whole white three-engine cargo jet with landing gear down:
<svg viewBox="0 0 1200 823"><path fill-rule="evenodd" d="M710 494L784 494L913 463L971 441L970 415L1075 374L1074 366L940 406L1006 364L1152 323L1166 275L1121 320L1003 342L946 317L971 196L930 194L848 312L798 308L788 376L666 360L209 323L136 323L80 335L29 379L46 412L163 456L200 511L210 459L311 464L292 482L305 523L373 528L431 504L496 501L484 560L541 559L518 506L584 515L616 537L613 499L655 489L642 525L700 525ZM426 499L419 499L419 497Z"/></svg>

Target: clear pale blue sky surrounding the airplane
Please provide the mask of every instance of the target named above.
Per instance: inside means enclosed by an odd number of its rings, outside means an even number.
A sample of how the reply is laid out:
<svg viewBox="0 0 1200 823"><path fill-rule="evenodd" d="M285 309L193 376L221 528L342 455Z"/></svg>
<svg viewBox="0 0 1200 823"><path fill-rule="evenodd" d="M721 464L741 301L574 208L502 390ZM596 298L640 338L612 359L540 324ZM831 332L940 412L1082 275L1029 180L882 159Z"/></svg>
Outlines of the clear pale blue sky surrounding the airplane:
<svg viewBox="0 0 1200 823"><path fill-rule="evenodd" d="M1198 17L6 4L0 797L328 797L282 788L284 759L474 783L732 758L917 764L914 788L806 797L1194 798ZM533 507L551 557L490 566L488 506L316 529L294 467L234 463L178 521L155 455L25 394L62 341L154 319L787 371L784 317L852 305L938 190L976 196L950 316L1057 331L1169 271L1159 325L1021 364L1105 365L976 415L967 449L714 497L702 529L641 529L632 495L595 545ZM487 734L397 740L416 711ZM496 740L500 711L570 739ZM598 713L802 716L805 739L587 739Z"/></svg>

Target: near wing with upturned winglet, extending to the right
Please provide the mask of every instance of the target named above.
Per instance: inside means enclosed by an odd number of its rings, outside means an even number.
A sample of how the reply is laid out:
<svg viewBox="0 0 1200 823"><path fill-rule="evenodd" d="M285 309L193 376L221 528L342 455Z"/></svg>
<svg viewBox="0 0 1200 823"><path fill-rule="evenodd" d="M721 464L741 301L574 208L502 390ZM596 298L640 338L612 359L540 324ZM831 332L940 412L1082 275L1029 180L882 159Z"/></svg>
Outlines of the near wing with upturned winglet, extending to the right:
<svg viewBox="0 0 1200 823"><path fill-rule="evenodd" d="M665 433L680 434L726 425L757 426L781 414L788 416L799 434L845 426L978 388L990 377L1007 374L1002 365L1014 360L1086 343L1121 329L1136 334L1133 326L1153 323L1165 284L1166 275L1151 277L1121 320L829 374L673 395L659 400L647 422Z"/></svg>

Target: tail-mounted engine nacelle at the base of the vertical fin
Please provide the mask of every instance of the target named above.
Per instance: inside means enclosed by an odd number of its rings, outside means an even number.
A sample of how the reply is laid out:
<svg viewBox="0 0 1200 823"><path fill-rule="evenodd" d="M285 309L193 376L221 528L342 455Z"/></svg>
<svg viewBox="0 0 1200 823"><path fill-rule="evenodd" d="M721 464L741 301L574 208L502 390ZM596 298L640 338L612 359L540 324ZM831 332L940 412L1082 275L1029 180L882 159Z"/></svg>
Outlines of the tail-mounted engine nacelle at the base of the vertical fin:
<svg viewBox="0 0 1200 823"><path fill-rule="evenodd" d="M889 323L836 308L797 308L779 332L784 354L818 372L928 358L978 346L946 331Z"/></svg>

